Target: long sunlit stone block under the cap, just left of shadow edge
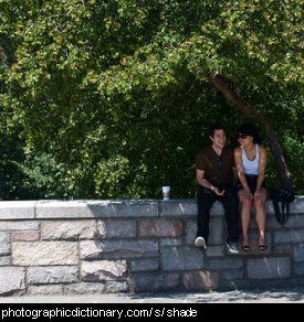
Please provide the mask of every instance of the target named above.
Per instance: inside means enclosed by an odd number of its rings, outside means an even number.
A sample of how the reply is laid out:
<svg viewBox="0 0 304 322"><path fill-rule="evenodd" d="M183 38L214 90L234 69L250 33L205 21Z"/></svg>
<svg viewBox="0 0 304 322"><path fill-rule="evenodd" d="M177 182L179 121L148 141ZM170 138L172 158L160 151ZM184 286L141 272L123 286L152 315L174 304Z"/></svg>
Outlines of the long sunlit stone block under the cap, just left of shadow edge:
<svg viewBox="0 0 304 322"><path fill-rule="evenodd" d="M95 221L48 221L41 223L41 239L43 240L93 239L95 233Z"/></svg>

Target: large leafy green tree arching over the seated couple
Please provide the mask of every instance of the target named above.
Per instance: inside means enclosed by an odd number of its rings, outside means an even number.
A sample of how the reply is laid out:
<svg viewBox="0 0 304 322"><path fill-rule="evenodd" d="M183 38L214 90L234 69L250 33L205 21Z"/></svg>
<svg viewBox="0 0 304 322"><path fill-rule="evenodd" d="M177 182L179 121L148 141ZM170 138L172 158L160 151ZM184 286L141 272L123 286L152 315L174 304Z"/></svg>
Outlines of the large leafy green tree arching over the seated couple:
<svg viewBox="0 0 304 322"><path fill-rule="evenodd" d="M189 157L219 118L260 122L290 184L276 135L303 151L300 0L13 2L0 3L15 49L2 106L82 196L155 196L165 181L191 194Z"/></svg>

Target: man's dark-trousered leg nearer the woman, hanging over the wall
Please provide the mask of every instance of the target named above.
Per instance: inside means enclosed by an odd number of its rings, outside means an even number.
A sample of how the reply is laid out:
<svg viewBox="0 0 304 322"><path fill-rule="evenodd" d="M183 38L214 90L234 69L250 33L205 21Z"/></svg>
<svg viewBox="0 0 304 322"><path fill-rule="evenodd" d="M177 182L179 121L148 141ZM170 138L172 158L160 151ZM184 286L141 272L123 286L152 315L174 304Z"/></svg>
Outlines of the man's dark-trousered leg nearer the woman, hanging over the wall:
<svg viewBox="0 0 304 322"><path fill-rule="evenodd" d="M237 243L239 239L239 201L233 186L224 189L224 195L220 198L224 208L224 216L228 228L228 243Z"/></svg>

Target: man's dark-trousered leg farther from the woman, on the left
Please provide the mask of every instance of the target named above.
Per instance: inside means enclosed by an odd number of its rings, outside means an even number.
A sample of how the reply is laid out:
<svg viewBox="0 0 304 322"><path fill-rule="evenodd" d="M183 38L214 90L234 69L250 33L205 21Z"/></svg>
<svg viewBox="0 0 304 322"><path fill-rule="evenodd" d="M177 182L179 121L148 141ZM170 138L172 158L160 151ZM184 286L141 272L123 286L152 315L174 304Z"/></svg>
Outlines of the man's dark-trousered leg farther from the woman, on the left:
<svg viewBox="0 0 304 322"><path fill-rule="evenodd" d="M208 245L209 238L209 218L210 208L216 200L214 193L208 191L205 187L200 187L198 191L198 233L197 237L203 237L206 245Z"/></svg>

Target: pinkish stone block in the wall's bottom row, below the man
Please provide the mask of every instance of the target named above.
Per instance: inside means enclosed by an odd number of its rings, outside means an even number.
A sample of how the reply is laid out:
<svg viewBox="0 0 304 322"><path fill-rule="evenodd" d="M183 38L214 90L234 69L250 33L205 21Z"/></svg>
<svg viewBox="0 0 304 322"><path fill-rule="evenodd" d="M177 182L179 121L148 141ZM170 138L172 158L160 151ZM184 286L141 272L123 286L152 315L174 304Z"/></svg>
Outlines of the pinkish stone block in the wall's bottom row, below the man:
<svg viewBox="0 0 304 322"><path fill-rule="evenodd" d="M187 291L217 290L219 288L219 273L211 271L184 272L182 286Z"/></svg>

